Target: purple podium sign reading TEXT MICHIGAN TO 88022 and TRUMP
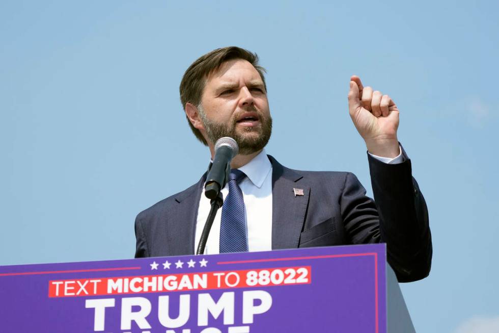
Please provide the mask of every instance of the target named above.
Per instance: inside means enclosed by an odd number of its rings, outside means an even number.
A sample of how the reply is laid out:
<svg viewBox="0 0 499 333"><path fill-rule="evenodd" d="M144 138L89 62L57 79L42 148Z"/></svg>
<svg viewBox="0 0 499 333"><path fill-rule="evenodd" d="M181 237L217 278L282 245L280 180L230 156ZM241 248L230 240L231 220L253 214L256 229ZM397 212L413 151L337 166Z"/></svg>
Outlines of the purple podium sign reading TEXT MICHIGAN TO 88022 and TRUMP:
<svg viewBox="0 0 499 333"><path fill-rule="evenodd" d="M0 267L0 331L362 332L386 320L384 244Z"/></svg>

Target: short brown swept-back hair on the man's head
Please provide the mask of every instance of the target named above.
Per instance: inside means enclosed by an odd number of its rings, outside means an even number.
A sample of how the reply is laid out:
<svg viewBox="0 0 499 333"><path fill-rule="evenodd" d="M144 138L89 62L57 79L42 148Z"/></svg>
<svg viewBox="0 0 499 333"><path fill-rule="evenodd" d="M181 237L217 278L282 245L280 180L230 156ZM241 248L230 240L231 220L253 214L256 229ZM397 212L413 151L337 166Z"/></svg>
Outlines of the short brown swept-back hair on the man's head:
<svg viewBox="0 0 499 333"><path fill-rule="evenodd" d="M260 74L265 90L267 90L264 78L265 68L258 64L258 56L256 53L252 53L237 46L217 48L198 58L185 71L182 81L180 82L180 101L182 102L184 110L186 103L190 103L196 107L200 106L206 78L213 71L217 70L221 64L233 59L242 59L251 63ZM196 129L196 127L192 126L188 117L187 122L189 123L192 133L196 135L198 140L204 145L208 145L201 132Z"/></svg>

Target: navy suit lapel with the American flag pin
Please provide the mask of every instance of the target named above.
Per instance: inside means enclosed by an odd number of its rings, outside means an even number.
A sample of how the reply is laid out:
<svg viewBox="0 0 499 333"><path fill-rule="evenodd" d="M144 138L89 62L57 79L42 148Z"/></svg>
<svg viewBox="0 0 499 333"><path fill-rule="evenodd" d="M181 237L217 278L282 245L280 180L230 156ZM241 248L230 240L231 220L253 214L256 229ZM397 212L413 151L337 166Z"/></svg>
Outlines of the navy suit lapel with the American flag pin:
<svg viewBox="0 0 499 333"><path fill-rule="evenodd" d="M272 249L297 248L310 196L310 186L297 171L272 163ZM303 190L303 195L293 189Z"/></svg>

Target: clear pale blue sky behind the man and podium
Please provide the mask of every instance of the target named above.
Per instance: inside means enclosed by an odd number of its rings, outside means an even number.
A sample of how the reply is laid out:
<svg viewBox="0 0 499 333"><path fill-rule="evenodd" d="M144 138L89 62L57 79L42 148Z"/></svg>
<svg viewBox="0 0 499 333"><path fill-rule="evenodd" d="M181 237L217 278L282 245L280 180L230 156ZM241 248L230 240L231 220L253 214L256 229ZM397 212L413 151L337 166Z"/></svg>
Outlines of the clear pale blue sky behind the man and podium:
<svg viewBox="0 0 499 333"><path fill-rule="evenodd" d="M402 286L414 325L496 331L498 12L494 1L3 1L0 265L131 258L135 215L209 159L179 101L184 70L238 45L268 70L267 151L286 166L352 171L371 194L349 76L394 98L433 234L430 276Z"/></svg>

